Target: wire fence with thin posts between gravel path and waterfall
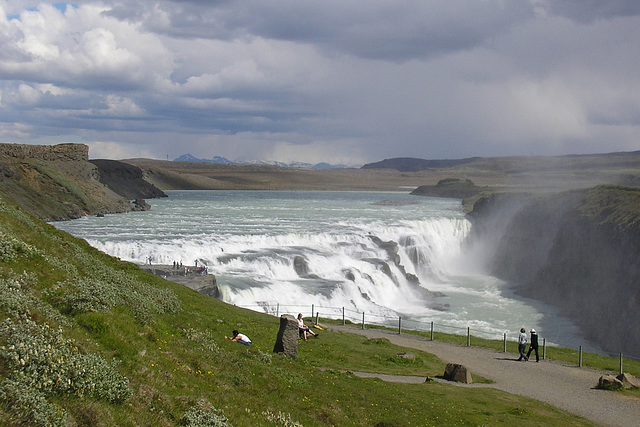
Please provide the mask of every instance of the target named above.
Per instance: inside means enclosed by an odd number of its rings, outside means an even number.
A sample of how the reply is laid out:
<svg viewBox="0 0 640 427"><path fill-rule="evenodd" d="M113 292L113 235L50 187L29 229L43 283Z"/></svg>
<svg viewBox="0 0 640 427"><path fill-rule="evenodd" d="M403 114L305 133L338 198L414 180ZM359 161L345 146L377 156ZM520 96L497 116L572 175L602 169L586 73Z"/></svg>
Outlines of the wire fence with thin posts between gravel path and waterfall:
<svg viewBox="0 0 640 427"><path fill-rule="evenodd" d="M403 319L402 317L384 316L374 313L365 313L356 310L347 309L345 307L326 307L311 305L281 305L279 303L267 303L261 302L255 305L242 305L241 307L254 311L262 311L267 314L280 317L282 314L302 313L304 317L311 317L315 324L318 323L318 319L332 319L342 321L345 325L347 322L351 324L360 325L362 329L366 326L379 326L389 329L398 330L398 334L401 334L403 330L406 331L419 331L428 334L428 338L433 341L436 339L437 334L448 334L460 337L466 336L466 345L471 346L472 340L481 338L485 340L502 341L503 352L507 352L509 349L517 348L517 336L515 339L505 332L502 335L497 335L495 332L486 330L471 329L470 327L460 327L456 325L447 325L445 323L435 323L418 321L413 319ZM608 366L608 370L618 371L623 373L624 369L629 365L633 366L635 372L640 373L640 356L623 355L622 353L609 353L604 352L604 355L587 353L583 351L582 346L577 349L564 348L559 345L547 345L546 339L543 337L540 342L540 357L541 359L547 358L562 358L567 360L575 360L575 363L579 367L583 366ZM618 366L612 364L616 362Z"/></svg>

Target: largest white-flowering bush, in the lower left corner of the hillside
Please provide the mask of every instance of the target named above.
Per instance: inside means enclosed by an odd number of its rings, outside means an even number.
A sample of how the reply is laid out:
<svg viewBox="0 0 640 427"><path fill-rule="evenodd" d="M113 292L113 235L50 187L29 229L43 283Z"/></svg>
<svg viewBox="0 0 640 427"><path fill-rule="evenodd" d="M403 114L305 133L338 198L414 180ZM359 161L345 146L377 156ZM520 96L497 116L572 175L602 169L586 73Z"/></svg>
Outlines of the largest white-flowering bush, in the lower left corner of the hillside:
<svg viewBox="0 0 640 427"><path fill-rule="evenodd" d="M80 353L59 329L28 318L6 319L0 324L0 343L0 361L9 373L0 397L14 416L56 412L46 403L51 395L91 396L111 403L131 395L129 380L116 371L115 362ZM15 398L25 390L30 398Z"/></svg>

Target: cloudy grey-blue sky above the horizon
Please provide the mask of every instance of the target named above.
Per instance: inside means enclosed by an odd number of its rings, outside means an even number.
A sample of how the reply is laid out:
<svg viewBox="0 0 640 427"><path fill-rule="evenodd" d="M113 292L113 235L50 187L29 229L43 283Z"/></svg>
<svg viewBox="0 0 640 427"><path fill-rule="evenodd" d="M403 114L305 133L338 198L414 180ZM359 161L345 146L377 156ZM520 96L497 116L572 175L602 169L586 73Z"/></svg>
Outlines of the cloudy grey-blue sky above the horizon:
<svg viewBox="0 0 640 427"><path fill-rule="evenodd" d="M352 165L640 150L640 1L0 0L0 142Z"/></svg>

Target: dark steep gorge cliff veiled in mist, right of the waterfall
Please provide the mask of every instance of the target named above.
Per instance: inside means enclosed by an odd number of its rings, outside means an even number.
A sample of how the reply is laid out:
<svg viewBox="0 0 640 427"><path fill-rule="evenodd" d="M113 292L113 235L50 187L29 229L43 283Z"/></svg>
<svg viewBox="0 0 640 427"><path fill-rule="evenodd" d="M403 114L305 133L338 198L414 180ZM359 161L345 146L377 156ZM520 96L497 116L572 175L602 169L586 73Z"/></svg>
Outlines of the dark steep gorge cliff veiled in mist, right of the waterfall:
<svg viewBox="0 0 640 427"><path fill-rule="evenodd" d="M606 351L640 356L640 188L493 195L469 243L517 293L558 307Z"/></svg>

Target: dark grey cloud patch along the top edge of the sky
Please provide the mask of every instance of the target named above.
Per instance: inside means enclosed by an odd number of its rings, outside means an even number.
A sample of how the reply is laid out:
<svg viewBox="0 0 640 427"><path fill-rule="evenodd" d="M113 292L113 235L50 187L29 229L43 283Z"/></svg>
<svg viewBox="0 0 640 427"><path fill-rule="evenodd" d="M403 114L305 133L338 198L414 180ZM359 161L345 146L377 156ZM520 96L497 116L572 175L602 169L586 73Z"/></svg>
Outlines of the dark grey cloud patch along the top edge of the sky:
<svg viewBox="0 0 640 427"><path fill-rule="evenodd" d="M524 1L450 0L171 1L142 8L136 2L109 12L120 19L155 16L147 21L149 28L176 37L264 37L383 60L470 49L530 20L533 13Z"/></svg>

